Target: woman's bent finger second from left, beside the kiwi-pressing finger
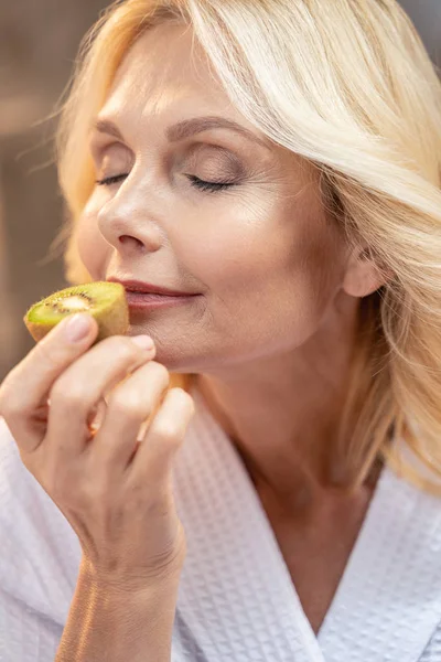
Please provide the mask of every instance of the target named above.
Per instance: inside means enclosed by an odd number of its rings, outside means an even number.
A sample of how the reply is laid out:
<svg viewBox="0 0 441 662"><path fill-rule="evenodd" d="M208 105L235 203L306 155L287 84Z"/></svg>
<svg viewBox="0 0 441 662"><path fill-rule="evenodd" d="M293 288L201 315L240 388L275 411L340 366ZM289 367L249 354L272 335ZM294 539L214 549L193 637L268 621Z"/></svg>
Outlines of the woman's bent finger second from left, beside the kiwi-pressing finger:
<svg viewBox="0 0 441 662"><path fill-rule="evenodd" d="M108 384L151 361L154 352L153 345L147 350L136 344L136 339L112 335L72 364L51 389L47 449L65 457L82 452L89 439L90 413L103 399Z"/></svg>

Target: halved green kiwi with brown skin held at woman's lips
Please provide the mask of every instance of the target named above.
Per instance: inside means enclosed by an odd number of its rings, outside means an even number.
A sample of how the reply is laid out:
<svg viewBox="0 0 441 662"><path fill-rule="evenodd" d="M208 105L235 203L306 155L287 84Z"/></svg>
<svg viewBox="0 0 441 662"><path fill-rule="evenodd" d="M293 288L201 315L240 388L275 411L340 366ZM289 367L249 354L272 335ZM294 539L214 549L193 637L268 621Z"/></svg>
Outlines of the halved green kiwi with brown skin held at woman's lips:
<svg viewBox="0 0 441 662"><path fill-rule="evenodd" d="M54 292L28 310L23 321L39 342L58 322L74 312L87 312L98 322L94 342L109 335L125 335L129 329L129 307L120 282L87 282Z"/></svg>

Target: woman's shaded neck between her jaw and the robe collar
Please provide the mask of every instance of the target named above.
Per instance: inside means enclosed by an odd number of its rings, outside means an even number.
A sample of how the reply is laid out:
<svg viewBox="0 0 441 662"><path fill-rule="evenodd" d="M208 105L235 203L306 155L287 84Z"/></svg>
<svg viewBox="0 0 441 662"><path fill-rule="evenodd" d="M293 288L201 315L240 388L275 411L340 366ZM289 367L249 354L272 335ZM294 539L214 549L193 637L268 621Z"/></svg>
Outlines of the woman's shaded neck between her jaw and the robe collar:
<svg viewBox="0 0 441 662"><path fill-rule="evenodd" d="M293 508L353 478L335 449L348 395L356 312L354 306L345 324L331 320L289 354L196 378L256 487Z"/></svg>

